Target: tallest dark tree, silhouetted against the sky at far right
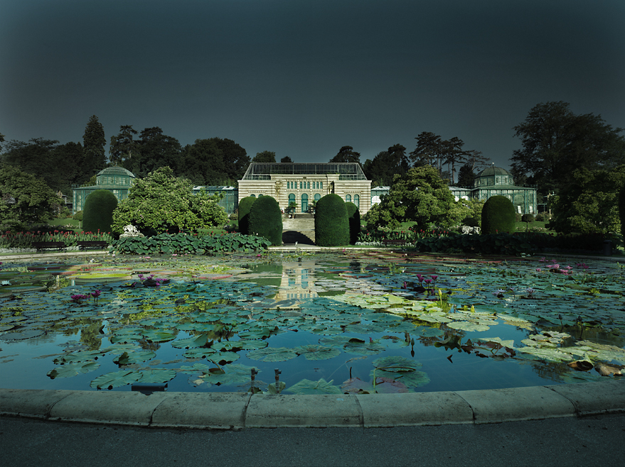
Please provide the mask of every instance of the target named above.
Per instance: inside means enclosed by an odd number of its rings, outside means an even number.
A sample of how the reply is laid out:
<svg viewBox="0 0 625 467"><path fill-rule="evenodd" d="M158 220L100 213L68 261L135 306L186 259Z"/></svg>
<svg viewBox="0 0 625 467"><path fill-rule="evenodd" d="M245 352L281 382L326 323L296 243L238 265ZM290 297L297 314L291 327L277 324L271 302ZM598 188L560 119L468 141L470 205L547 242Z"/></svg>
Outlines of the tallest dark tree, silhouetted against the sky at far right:
<svg viewBox="0 0 625 467"><path fill-rule="evenodd" d="M542 194L564 187L578 168L610 170L625 163L623 129L601 116L575 115L566 102L534 106L513 129L523 148L514 151L512 167L533 175Z"/></svg>

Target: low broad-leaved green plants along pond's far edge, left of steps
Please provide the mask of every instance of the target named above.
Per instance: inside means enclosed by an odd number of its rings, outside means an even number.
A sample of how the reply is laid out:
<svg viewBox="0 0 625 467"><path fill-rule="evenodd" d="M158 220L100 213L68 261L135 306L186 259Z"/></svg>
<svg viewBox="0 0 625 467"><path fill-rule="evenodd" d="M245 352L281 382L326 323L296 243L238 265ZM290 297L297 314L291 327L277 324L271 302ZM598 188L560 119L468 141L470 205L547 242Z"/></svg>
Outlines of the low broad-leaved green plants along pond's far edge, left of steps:
<svg viewBox="0 0 625 467"><path fill-rule="evenodd" d="M210 254L230 251L265 250L271 243L262 237L221 234L187 235L159 234L151 237L123 237L113 241L112 251L131 255Z"/></svg>

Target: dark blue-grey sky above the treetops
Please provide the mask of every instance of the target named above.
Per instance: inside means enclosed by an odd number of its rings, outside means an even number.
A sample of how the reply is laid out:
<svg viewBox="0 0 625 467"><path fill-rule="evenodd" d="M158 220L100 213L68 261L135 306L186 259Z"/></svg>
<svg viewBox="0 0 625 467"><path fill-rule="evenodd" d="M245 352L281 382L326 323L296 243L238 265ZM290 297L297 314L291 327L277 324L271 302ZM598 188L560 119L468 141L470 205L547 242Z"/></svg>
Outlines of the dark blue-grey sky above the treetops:
<svg viewBox="0 0 625 467"><path fill-rule="evenodd" d="M623 0L3 0L0 133L82 141L90 116L250 157L361 161L432 131L509 167L566 101L625 127ZM107 148L108 150L108 148Z"/></svg>

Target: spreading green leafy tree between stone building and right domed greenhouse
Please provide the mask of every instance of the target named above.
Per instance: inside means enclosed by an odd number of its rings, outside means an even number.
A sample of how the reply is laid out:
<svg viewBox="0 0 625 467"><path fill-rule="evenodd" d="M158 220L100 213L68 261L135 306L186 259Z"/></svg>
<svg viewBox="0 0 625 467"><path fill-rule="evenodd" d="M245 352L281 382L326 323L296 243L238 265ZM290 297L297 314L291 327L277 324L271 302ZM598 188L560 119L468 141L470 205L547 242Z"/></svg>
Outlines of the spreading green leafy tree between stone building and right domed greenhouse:
<svg viewBox="0 0 625 467"><path fill-rule="evenodd" d="M390 192L365 216L370 230L378 227L398 229L401 222L415 221L417 229L427 229L430 224L452 227L469 214L430 166L413 167L406 175L396 177Z"/></svg>

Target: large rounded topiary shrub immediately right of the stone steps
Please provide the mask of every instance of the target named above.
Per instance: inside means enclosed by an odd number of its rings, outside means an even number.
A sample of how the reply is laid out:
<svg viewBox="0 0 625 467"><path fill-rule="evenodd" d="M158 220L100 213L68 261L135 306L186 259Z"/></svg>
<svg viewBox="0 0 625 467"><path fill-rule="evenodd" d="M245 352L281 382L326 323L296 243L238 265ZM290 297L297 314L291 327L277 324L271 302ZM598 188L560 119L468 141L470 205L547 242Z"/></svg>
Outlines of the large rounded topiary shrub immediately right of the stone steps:
<svg viewBox="0 0 625 467"><path fill-rule="evenodd" d="M349 244L347 209L338 194L326 194L316 204L315 243L318 246Z"/></svg>

